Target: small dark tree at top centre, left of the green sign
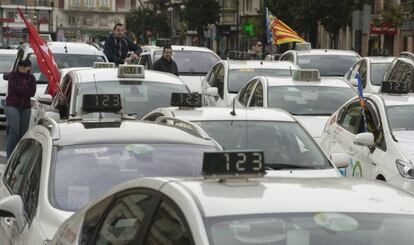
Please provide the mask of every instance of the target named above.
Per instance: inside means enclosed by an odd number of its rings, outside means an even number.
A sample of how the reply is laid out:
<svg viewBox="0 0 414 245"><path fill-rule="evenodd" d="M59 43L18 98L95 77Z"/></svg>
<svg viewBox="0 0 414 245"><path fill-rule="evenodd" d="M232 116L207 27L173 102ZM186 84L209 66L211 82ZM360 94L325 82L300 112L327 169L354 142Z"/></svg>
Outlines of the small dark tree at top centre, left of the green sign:
<svg viewBox="0 0 414 245"><path fill-rule="evenodd" d="M188 29L196 30L198 42L204 42L204 30L209 24L216 24L220 20L220 5L216 0L185 0L183 19Z"/></svg>

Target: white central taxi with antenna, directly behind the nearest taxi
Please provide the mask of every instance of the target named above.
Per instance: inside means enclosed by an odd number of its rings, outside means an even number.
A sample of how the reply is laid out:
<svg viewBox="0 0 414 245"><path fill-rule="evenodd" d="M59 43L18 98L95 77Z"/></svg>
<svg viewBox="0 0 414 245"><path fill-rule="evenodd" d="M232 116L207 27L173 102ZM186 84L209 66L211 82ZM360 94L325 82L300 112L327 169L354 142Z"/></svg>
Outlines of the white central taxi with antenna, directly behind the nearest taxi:
<svg viewBox="0 0 414 245"><path fill-rule="evenodd" d="M225 150L261 149L265 166L272 176L339 177L318 144L289 113L278 109L229 107L189 107L191 95L172 96L172 105L158 108L143 120L180 125L190 121L200 126ZM175 97L175 98L174 98ZM180 97L180 98L177 98ZM197 98L201 101L201 98ZM192 104L193 106L195 104ZM184 107L186 106L186 107ZM196 105L195 105L196 106ZM332 157L338 167L348 165L345 154Z"/></svg>

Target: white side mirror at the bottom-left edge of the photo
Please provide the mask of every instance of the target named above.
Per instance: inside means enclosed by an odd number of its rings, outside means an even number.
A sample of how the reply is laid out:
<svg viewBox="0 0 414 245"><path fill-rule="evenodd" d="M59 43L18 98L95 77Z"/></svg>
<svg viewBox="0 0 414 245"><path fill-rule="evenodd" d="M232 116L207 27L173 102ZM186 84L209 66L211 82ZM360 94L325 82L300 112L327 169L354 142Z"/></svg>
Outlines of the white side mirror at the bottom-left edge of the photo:
<svg viewBox="0 0 414 245"><path fill-rule="evenodd" d="M22 232L26 225L22 198L19 195L12 195L1 199L0 217L14 217L16 219L17 229Z"/></svg>

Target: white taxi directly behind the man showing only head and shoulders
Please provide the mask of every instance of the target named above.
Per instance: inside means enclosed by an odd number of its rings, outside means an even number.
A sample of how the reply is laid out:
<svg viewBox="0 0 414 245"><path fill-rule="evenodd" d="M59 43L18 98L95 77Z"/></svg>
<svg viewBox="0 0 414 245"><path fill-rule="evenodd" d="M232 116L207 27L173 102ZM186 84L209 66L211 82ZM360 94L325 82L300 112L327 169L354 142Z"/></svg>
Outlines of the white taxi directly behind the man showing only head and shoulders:
<svg viewBox="0 0 414 245"><path fill-rule="evenodd" d="M172 45L172 59L177 63L179 77L187 82L192 92L201 93L201 81L220 57L204 47ZM152 64L162 56L162 47L144 48L140 54L139 65L152 69Z"/></svg>

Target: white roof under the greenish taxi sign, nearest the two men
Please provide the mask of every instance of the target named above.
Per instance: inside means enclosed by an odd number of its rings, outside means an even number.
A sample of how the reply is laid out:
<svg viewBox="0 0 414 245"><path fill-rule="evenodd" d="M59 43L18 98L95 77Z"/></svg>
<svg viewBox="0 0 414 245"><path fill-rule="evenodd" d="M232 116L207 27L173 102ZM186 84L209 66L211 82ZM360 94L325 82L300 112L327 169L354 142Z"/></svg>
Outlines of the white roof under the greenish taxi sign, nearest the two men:
<svg viewBox="0 0 414 245"><path fill-rule="evenodd" d="M186 85L186 83L179 77L167 73L154 70L145 70L145 78L118 78L118 68L89 68L89 69L74 69L70 71L78 77L76 82L93 82L93 81L149 81L169 84Z"/></svg>

